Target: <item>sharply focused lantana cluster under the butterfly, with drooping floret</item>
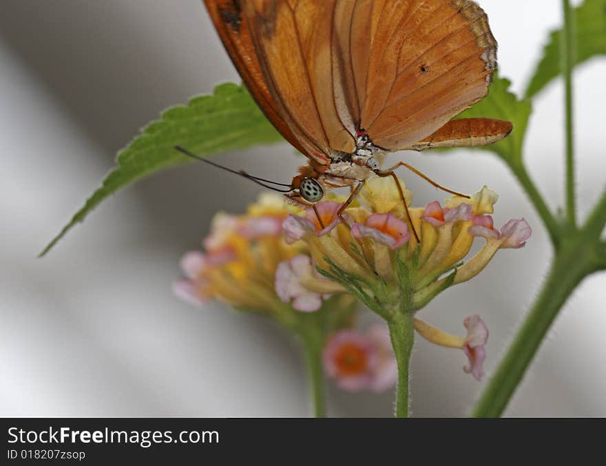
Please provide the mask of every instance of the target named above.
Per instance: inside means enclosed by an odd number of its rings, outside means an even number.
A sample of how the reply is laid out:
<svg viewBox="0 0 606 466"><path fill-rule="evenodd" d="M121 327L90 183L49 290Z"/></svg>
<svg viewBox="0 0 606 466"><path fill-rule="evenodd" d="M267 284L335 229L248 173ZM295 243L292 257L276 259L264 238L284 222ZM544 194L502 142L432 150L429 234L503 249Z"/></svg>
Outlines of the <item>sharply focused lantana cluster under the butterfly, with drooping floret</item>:
<svg viewBox="0 0 606 466"><path fill-rule="evenodd" d="M404 209L393 179L377 177L368 180L359 202L344 210L347 224L337 217L342 207L339 199L284 220L286 242L306 244L317 271L358 297L388 324L400 315L414 316L446 288L475 277L497 251L524 246L531 234L524 219L509 220L501 229L494 227L491 214L498 195L488 187L470 198L454 196L444 204L436 201L414 207L410 205L412 194L399 182L408 209ZM420 244L412 228L419 234ZM466 260L477 239L484 240L483 246ZM295 273L297 264L291 261L290 268ZM307 299L294 283L278 277L276 286L284 296ZM479 380L488 329L477 315L468 317L464 325L467 337L454 337L414 319L415 330L422 337L463 350L469 360L466 372Z"/></svg>

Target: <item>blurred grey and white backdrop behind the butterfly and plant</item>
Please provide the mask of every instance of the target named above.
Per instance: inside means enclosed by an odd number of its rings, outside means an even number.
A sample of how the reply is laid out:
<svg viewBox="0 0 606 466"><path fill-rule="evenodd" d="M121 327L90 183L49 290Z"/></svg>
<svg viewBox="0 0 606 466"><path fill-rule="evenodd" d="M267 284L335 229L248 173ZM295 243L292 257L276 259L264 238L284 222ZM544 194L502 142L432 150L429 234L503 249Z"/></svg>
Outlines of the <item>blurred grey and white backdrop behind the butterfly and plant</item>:
<svg viewBox="0 0 606 466"><path fill-rule="evenodd" d="M502 76L521 92L551 28L554 0L482 0L500 45ZM576 73L578 195L585 215L604 188L606 61ZM202 164L122 191L42 260L36 253L112 167L114 153L169 105L239 81L200 0L0 2L0 415L304 416L295 344L267 321L171 295L178 260L198 247L218 210L241 212L254 184ZM552 206L563 199L563 85L536 100L526 141L532 176ZM216 160L290 180L287 145ZM516 180L495 158L464 150L405 154L448 187L488 184L496 220L524 216L534 235L503 251L421 318L463 335L479 313L490 328L488 374L543 280L550 245ZM444 195L402 173L417 204ZM510 416L606 415L606 276L587 280L558 318L508 409ZM460 416L482 385L463 354L415 346L412 409ZM330 390L335 416L389 416L392 394Z"/></svg>

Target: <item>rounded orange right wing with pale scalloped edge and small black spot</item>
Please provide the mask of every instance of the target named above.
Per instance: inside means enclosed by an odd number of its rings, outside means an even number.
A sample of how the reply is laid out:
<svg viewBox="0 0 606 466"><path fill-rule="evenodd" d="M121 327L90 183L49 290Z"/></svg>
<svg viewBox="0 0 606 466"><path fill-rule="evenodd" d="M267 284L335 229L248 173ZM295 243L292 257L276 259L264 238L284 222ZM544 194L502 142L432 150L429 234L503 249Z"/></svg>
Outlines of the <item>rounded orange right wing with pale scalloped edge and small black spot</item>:
<svg viewBox="0 0 606 466"><path fill-rule="evenodd" d="M487 94L497 41L486 14L470 0L366 3L359 12L370 18L366 27L351 19L355 34L366 36L353 40L368 44L351 49L361 64L354 67L363 83L359 124L375 145L407 149Z"/></svg>

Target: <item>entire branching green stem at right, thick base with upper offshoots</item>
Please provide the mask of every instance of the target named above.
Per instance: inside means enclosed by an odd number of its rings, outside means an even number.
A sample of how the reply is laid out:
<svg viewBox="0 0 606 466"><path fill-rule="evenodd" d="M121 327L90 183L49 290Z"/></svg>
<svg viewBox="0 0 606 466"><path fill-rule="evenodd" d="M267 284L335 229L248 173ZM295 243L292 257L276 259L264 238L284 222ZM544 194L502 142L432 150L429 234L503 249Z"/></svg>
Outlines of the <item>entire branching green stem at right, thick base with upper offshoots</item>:
<svg viewBox="0 0 606 466"><path fill-rule="evenodd" d="M572 70L576 61L574 10L570 6L570 0L562 0L562 5L564 30L561 59L565 80L566 218L569 230L563 232L559 229L556 220L545 206L539 193L536 192L534 184L523 167L510 165L543 218L556 248L556 257L539 297L477 403L472 416L500 416L503 413L534 358L534 354L539 350L547 331L551 328L568 297L587 275L606 269L606 242L600 241L606 225L606 193L589 215L583 229L581 231L576 229L574 94L572 87Z"/></svg>

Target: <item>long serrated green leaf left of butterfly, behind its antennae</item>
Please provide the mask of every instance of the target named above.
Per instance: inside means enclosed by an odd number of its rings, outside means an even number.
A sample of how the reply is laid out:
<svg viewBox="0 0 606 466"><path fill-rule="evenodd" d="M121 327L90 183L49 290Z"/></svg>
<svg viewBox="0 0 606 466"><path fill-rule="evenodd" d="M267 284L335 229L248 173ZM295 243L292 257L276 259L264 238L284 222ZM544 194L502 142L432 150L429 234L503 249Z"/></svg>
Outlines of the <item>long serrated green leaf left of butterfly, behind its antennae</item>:
<svg viewBox="0 0 606 466"><path fill-rule="evenodd" d="M48 253L67 231L118 189L158 171L191 162L191 158L174 149L176 145L199 156L209 156L281 140L282 136L247 90L233 83L218 85L213 95L194 97L185 106L171 107L118 152L117 167L109 171L101 187L40 255Z"/></svg>

